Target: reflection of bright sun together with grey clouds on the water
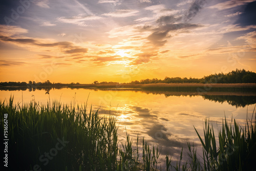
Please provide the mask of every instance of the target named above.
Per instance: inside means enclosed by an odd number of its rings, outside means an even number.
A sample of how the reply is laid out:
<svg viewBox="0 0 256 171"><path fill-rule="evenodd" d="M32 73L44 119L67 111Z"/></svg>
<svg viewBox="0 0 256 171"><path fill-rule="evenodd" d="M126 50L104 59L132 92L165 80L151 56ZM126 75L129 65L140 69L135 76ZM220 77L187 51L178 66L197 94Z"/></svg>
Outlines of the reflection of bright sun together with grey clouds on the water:
<svg viewBox="0 0 256 171"><path fill-rule="evenodd" d="M108 112L105 111L105 113ZM179 128L168 123L169 118L160 115L158 111L126 105L125 108L118 109L116 113L114 115L118 117L119 129L122 130L120 130L121 137L125 136L126 131L133 139L140 135L141 140L145 137L149 144L158 146L162 155L170 154L174 157L178 157L181 147L187 145L188 138L174 134L172 130L179 130Z"/></svg>

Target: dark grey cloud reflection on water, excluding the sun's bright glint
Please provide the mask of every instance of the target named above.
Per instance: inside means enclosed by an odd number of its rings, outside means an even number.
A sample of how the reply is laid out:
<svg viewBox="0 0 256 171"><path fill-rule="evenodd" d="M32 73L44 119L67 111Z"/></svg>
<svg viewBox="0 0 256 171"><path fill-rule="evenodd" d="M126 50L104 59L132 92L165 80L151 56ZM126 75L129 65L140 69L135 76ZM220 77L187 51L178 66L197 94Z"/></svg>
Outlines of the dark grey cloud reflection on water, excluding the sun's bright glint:
<svg viewBox="0 0 256 171"><path fill-rule="evenodd" d="M173 135L170 130L167 130L166 126L162 124L160 120L168 121L168 119L158 118L157 111L141 108L140 106L131 106L130 108L133 110L133 116L140 120L135 122L122 122L122 124L139 125L140 127L134 127L133 129L139 129L141 130L140 133L152 137L152 140L147 140L147 143L151 145L157 143L159 149L161 149L162 155L170 155L171 153L174 156L174 154L180 154L181 147L187 146L186 138ZM131 111L129 111L129 114L131 114ZM135 131L135 133L137 134L138 132ZM194 145L197 146L198 144L194 143Z"/></svg>

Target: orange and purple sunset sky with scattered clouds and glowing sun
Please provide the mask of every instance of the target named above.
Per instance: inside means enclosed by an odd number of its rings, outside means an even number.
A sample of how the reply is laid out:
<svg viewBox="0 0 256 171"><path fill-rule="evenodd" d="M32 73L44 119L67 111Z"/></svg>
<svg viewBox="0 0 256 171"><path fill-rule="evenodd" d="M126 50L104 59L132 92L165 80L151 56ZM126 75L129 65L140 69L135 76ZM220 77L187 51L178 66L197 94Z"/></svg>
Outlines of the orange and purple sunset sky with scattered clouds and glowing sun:
<svg viewBox="0 0 256 171"><path fill-rule="evenodd" d="M0 82L256 72L256 1L3 0Z"/></svg>

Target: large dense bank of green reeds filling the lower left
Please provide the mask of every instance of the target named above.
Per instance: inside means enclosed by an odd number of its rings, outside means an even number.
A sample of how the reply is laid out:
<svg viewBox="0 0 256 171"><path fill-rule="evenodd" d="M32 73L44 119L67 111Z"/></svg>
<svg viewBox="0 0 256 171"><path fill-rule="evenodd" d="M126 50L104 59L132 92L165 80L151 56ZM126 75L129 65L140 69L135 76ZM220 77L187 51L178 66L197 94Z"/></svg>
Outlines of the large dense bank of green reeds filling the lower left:
<svg viewBox="0 0 256 171"><path fill-rule="evenodd" d="M140 158L139 137L136 147L128 134L125 143L119 142L117 119L86 109L86 104L56 101L51 105L14 104L13 97L8 103L1 101L0 119L6 113L9 122L9 169L34 170L38 165L38 170L157 170L158 148L150 149L143 139ZM67 144L56 153L52 149L59 140Z"/></svg>

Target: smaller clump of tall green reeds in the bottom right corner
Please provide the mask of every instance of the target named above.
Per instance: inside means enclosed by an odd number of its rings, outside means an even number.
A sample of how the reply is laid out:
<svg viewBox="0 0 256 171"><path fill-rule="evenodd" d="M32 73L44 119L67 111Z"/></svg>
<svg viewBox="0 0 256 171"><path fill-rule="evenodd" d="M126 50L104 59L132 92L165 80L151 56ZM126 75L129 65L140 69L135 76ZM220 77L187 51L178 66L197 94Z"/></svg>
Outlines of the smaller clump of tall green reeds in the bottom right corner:
<svg viewBox="0 0 256 171"><path fill-rule="evenodd" d="M209 120L205 120L203 137L199 135L194 127L202 144L203 156L198 157L194 144L191 148L188 142L189 167L187 167L188 163L186 161L181 169L180 159L174 167L175 170L255 170L256 115L254 110L251 119L247 117L245 126L241 126L233 118L228 123L225 117L217 138L215 137L214 127L210 125ZM255 115L254 119L253 113ZM217 140L219 144L217 144Z"/></svg>

